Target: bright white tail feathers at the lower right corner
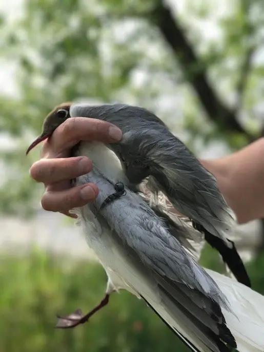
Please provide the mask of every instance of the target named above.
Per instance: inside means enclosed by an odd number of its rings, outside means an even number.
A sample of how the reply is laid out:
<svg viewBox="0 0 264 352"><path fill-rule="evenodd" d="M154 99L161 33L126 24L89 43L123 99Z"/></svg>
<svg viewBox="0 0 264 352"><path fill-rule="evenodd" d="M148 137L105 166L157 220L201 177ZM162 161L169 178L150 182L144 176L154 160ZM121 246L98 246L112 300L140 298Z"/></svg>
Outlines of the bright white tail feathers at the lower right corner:
<svg viewBox="0 0 264 352"><path fill-rule="evenodd" d="M230 302L235 315L222 308L239 352L264 351L264 296L212 270L205 269Z"/></svg>

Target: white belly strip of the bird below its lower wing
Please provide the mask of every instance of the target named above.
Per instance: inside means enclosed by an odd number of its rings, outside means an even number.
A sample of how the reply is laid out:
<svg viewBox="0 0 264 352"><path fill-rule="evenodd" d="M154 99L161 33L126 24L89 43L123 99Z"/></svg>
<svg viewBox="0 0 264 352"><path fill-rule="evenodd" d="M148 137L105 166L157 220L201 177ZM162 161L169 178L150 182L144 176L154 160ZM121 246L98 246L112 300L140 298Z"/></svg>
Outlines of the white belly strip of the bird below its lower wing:
<svg viewBox="0 0 264 352"><path fill-rule="evenodd" d="M94 214L87 204L75 211L77 213L82 230L86 236L89 247L94 251L99 262L105 268L105 271L116 289L126 289L138 298L144 300L155 310L156 314L161 317L176 334L195 352L212 352L202 342L200 342L194 333L184 324L175 321L168 307L161 303L157 285L152 280L151 275L141 273L135 263L122 250L121 245L114 239L114 234L108 226L105 226L96 220ZM82 215L83 214L83 215ZM88 220L89 219L89 220ZM93 220L92 220L93 219ZM124 279L126 278L126 279ZM192 347L191 344L196 347ZM219 352L219 351L218 351Z"/></svg>

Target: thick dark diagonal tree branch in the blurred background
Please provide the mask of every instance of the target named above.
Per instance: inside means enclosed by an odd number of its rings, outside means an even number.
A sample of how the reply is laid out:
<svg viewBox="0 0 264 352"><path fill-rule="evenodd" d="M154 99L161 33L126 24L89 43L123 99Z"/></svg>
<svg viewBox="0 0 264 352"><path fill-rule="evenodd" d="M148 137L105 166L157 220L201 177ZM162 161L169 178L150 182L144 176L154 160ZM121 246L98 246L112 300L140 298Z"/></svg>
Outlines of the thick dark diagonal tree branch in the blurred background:
<svg viewBox="0 0 264 352"><path fill-rule="evenodd" d="M192 85L210 119L226 132L242 133L248 138L249 142L254 140L254 137L243 129L237 121L235 112L226 107L217 96L210 85L204 64L195 53L184 30L173 18L171 10L164 5L162 0L157 0L157 5L153 9L153 16L156 26L171 47L185 77Z"/></svg>

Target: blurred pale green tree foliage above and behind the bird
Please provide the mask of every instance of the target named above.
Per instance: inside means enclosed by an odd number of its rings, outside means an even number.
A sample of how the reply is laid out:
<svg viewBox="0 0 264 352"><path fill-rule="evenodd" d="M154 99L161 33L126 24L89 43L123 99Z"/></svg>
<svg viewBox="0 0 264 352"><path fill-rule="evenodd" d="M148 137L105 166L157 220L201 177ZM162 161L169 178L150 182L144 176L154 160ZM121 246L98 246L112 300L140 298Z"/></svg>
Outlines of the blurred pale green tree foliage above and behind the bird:
<svg viewBox="0 0 264 352"><path fill-rule="evenodd" d="M144 106L196 154L216 140L233 149L247 143L241 134L226 135L205 115L189 85L192 72L182 74L156 25L151 11L160 3L25 0L21 16L1 16L1 59L15 67L15 94L0 95L0 133L13 138L10 148L0 148L0 161L8 165L0 189L2 212L25 216L36 205L42 189L28 177L28 169L39 148L27 158L24 153L46 114L63 101L89 97ZM175 20L197 52L198 66L206 69L223 102L237 116L246 115L243 125L256 133L254 108L263 96L264 66L249 54L262 48L263 2L243 0L229 6L226 0L219 15L211 0L175 5L181 8L174 12ZM210 18L213 27L207 31Z"/></svg>

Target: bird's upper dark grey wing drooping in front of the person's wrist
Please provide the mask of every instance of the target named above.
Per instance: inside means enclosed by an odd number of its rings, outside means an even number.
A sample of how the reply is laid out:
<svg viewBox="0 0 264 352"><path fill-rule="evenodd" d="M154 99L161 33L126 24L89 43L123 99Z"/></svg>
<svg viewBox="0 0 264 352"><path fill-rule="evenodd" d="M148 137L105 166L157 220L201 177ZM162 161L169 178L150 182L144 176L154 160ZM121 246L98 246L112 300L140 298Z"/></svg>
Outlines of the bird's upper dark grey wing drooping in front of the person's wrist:
<svg viewBox="0 0 264 352"><path fill-rule="evenodd" d="M155 140L155 146L150 138ZM151 164L149 184L152 183L153 191L165 193L177 211L226 241L235 224L233 212L219 192L213 175L186 146L167 129L158 127L145 131L138 149Z"/></svg>

